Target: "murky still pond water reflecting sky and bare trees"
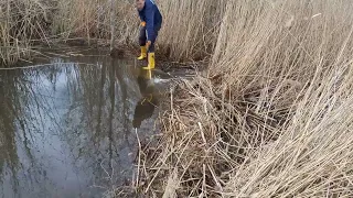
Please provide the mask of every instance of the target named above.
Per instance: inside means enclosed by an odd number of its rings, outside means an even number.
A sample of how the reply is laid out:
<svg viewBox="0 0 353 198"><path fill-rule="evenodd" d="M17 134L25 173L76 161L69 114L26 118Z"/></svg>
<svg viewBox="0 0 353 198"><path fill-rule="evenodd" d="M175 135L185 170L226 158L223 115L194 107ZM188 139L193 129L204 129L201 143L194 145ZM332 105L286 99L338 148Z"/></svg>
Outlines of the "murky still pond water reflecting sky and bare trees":
<svg viewBox="0 0 353 198"><path fill-rule="evenodd" d="M0 70L1 197L101 197L131 179L159 88L133 61L86 54Z"/></svg>

